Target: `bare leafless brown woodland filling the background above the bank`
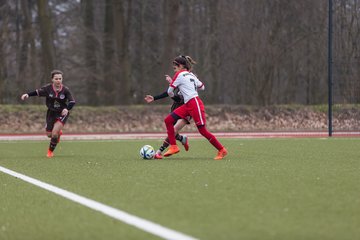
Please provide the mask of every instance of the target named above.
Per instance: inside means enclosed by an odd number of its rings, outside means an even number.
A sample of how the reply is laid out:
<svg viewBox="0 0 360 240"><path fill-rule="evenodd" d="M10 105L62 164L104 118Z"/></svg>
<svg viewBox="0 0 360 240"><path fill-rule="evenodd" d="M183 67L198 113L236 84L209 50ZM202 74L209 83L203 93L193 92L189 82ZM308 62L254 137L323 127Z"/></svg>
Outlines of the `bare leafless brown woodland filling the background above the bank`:
<svg viewBox="0 0 360 240"><path fill-rule="evenodd" d="M334 100L359 102L359 1L333 1ZM16 103L17 87L38 85L59 67L83 104L143 103L145 94L166 89L171 59L185 54L198 62L207 103L326 103L327 7L312 0L0 0L0 102Z"/></svg>

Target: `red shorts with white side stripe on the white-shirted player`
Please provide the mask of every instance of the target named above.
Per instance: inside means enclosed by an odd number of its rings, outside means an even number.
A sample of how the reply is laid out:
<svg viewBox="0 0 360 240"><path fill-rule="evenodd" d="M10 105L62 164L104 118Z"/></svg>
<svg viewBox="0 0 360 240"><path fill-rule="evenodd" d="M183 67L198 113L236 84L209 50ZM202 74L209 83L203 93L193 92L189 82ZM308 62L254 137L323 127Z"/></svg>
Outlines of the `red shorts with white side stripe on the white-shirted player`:
<svg viewBox="0 0 360 240"><path fill-rule="evenodd" d="M205 125L206 123L205 107L199 97L190 99L187 103L175 109L173 113L184 119L191 116L196 126Z"/></svg>

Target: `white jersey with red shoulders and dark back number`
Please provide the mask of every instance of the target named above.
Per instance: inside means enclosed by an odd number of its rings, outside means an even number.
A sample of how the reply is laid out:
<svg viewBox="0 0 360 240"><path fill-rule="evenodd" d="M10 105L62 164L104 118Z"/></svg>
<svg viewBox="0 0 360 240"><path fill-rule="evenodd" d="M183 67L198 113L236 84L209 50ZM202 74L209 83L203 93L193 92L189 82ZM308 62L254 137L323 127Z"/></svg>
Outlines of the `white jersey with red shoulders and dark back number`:
<svg viewBox="0 0 360 240"><path fill-rule="evenodd" d="M187 103L190 99L199 96L197 90L204 90L204 84L189 71L179 71L175 74L172 83L169 86L168 94L170 97L174 95L174 90L178 88L184 96L184 102Z"/></svg>

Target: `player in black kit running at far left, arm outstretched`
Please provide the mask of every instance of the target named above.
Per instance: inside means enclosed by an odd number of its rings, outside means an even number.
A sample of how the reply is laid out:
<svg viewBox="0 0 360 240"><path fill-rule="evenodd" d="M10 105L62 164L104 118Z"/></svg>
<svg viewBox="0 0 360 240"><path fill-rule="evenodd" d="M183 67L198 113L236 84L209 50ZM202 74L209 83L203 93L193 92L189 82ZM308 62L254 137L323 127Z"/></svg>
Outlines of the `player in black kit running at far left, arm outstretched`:
<svg viewBox="0 0 360 240"><path fill-rule="evenodd" d="M52 158L56 145L60 141L62 129L69 118L70 110L75 105L75 100L68 87L62 84L63 73L59 70L51 72L52 83L49 83L33 92L25 93L21 100L38 96L46 98L46 132L50 138L50 146L46 156Z"/></svg>

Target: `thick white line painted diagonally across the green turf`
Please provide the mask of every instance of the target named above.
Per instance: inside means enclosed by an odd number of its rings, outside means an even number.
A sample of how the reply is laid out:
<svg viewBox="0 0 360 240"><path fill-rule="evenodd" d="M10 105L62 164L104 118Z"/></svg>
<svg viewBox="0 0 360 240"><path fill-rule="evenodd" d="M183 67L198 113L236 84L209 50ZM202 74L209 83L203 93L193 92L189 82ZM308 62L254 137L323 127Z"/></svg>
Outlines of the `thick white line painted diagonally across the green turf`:
<svg viewBox="0 0 360 240"><path fill-rule="evenodd" d="M183 233L163 227L157 223L153 223L148 220L142 219L140 217L131 215L131 214L121 211L119 209L107 206L105 204L96 202L89 198L82 197L80 195L69 192L67 190L55 187L48 183L44 183L40 180L37 180L37 179L31 178L31 177L28 177L26 175L14 172L14 171L4 168L2 166L0 166L0 171L3 173L9 174L13 177L19 178L19 179L21 179L25 182L28 182L30 184L33 184L35 186L38 186L40 188L43 188L45 190L48 190L50 192L53 192L57 195L60 195L61 197L67 198L73 202L79 203L79 204L86 206L88 208L91 208L95 211L99 211L109 217L115 218L126 224L132 225L132 226L139 228L145 232L159 236L163 239L171 239L171 240L195 240L196 239L194 237L187 236Z"/></svg>

